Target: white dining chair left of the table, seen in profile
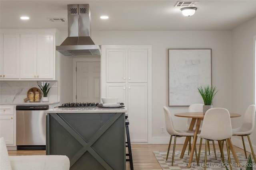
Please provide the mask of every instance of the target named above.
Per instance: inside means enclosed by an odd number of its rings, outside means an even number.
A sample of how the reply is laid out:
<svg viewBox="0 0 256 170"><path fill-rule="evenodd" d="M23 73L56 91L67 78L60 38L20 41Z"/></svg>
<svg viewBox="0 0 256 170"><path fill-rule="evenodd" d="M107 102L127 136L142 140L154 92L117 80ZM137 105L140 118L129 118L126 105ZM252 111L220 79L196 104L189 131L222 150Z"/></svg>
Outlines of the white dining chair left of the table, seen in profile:
<svg viewBox="0 0 256 170"><path fill-rule="evenodd" d="M174 145L173 145L173 151L172 151L172 166L173 166L174 152L175 152L175 145L176 145L176 137L193 137L194 136L194 131L176 130L174 128L174 124L172 122L172 116L170 114L170 111L166 106L164 106L164 119L165 119L166 131L171 135L166 160L168 159L170 146L171 146L171 142L172 142L172 136L174 136ZM196 158L197 158L197 154L196 154Z"/></svg>

